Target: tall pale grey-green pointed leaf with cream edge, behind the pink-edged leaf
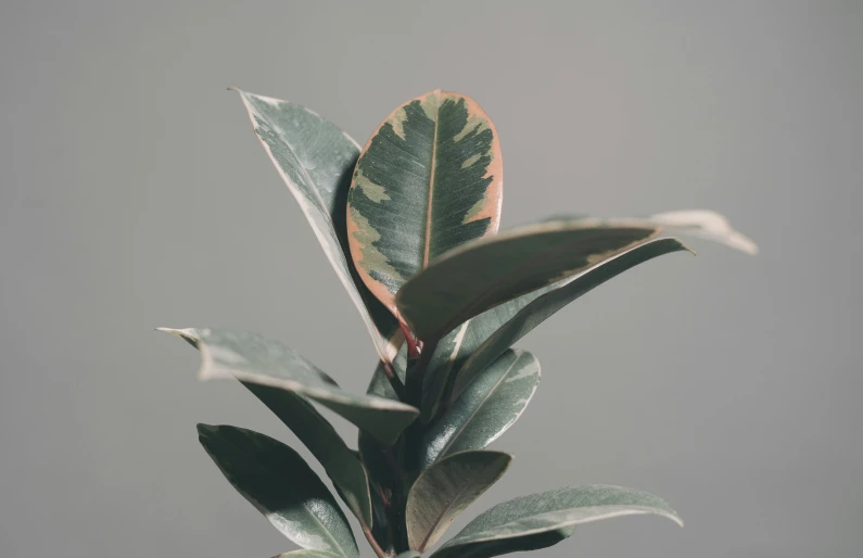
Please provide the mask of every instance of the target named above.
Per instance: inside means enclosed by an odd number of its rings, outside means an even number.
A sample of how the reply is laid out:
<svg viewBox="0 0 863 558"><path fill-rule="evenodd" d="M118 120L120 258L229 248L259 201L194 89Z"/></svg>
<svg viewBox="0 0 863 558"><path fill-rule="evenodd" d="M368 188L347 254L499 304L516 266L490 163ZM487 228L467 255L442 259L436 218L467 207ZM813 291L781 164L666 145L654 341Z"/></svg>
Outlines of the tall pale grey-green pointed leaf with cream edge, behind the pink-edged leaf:
<svg viewBox="0 0 863 558"><path fill-rule="evenodd" d="M359 147L334 124L305 106L238 92L261 143L359 310L379 356L389 362L402 339L398 324L366 289L346 257L345 207Z"/></svg>

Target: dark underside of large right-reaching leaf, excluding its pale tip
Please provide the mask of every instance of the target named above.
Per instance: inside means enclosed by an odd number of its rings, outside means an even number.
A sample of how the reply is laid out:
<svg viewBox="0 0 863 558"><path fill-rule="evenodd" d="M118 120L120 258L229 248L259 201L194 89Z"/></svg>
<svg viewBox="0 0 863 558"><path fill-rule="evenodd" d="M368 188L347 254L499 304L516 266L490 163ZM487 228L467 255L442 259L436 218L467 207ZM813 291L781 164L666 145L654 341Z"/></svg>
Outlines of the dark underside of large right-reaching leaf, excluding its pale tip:
<svg viewBox="0 0 863 558"><path fill-rule="evenodd" d="M653 227L600 219L544 221L475 240L435 259L398 291L402 319L422 340L646 242Z"/></svg>

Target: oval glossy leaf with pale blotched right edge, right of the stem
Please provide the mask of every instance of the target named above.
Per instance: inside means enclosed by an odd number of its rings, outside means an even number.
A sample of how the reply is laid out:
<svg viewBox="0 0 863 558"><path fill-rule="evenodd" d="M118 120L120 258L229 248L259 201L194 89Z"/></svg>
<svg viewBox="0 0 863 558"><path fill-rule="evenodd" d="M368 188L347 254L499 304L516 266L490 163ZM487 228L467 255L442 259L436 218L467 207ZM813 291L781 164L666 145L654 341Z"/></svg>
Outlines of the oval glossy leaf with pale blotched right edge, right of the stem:
<svg viewBox="0 0 863 558"><path fill-rule="evenodd" d="M521 416L540 383L540 362L507 351L480 373L422 439L422 468L458 452L483 449Z"/></svg>

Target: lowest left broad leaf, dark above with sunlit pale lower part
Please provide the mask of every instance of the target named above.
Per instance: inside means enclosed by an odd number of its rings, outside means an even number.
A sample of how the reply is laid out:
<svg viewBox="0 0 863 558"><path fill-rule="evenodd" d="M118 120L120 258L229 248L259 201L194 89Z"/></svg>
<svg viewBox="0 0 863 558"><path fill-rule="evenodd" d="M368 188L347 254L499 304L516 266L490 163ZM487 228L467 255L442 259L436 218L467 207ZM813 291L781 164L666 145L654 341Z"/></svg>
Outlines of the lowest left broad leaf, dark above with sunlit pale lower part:
<svg viewBox="0 0 863 558"><path fill-rule="evenodd" d="M284 536L309 550L359 557L342 510L296 452L241 428L199 424L198 434L233 487Z"/></svg>

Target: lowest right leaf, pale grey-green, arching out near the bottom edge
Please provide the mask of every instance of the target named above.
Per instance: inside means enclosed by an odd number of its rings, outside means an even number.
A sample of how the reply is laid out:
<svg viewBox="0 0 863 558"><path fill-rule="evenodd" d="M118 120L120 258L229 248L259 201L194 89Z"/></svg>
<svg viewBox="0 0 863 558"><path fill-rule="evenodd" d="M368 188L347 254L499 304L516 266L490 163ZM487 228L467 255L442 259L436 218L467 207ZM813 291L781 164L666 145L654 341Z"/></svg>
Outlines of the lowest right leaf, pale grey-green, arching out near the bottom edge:
<svg viewBox="0 0 863 558"><path fill-rule="evenodd" d="M570 536L575 525L645 513L683 525L668 503L646 492L607 485L556 489L494 506L432 556L488 558L536 550Z"/></svg>

